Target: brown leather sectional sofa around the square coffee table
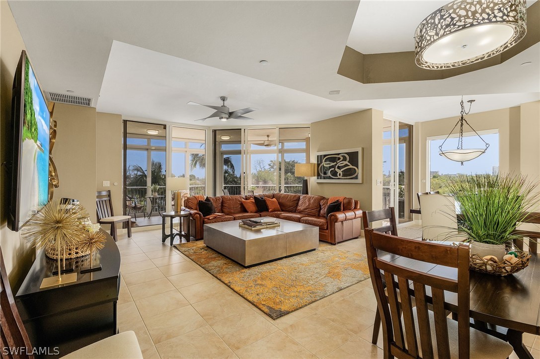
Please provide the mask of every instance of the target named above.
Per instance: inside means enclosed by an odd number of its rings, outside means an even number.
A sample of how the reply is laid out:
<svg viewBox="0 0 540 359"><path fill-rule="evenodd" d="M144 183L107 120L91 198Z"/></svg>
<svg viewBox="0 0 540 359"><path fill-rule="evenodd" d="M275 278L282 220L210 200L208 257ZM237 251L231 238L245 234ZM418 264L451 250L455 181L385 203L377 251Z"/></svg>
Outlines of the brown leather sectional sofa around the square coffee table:
<svg viewBox="0 0 540 359"><path fill-rule="evenodd" d="M228 195L210 197L215 211L225 215L213 219L204 218L198 209L198 200L188 197L184 206L191 212L191 236L203 239L203 226L207 223L226 222L257 217L277 217L289 221L306 223L319 227L319 239L333 245L341 241L356 238L360 235L362 226L362 210L360 202L352 198L343 200L343 211L330 213L326 218L328 198L291 193L265 193L265 197L278 200L280 212L248 213L242 205L242 199L249 199L253 195Z"/></svg>

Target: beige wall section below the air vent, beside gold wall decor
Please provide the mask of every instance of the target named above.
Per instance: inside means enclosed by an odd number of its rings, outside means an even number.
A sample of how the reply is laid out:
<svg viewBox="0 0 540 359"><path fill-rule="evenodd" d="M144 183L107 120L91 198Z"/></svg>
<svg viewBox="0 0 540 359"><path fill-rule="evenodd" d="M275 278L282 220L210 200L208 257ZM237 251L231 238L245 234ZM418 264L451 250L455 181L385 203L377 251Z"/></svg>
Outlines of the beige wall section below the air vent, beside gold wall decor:
<svg viewBox="0 0 540 359"><path fill-rule="evenodd" d="M55 104L56 143L52 149L60 186L55 198L76 198L96 221L96 109Z"/></svg>

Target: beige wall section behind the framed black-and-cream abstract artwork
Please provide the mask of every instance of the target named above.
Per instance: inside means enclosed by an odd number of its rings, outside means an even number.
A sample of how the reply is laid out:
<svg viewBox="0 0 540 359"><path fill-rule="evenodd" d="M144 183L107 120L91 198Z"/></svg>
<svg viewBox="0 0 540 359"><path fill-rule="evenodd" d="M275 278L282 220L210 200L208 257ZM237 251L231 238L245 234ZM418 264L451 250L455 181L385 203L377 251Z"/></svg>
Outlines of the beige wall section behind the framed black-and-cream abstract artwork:
<svg viewBox="0 0 540 359"><path fill-rule="evenodd" d="M376 180L382 178L382 122L382 112L370 109L312 123L311 162L319 151L363 147L363 182L317 183L311 178L309 193L352 197L368 211L381 208L382 186L376 186Z"/></svg>

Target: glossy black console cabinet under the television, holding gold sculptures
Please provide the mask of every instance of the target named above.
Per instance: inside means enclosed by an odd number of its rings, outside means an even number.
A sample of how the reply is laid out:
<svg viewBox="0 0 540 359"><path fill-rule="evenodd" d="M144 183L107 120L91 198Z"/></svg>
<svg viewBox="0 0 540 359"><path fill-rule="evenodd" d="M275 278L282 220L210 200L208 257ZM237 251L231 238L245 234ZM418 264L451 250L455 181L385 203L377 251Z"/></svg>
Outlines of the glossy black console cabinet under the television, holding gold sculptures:
<svg viewBox="0 0 540 359"><path fill-rule="evenodd" d="M63 356L117 333L120 253L110 234L106 236L105 247L93 261L102 270L79 273L90 265L89 256L66 260L74 263L77 282L39 289L43 278L52 276L57 261L43 250L38 253L15 297L33 347L50 348L49 354L58 347Z"/></svg>

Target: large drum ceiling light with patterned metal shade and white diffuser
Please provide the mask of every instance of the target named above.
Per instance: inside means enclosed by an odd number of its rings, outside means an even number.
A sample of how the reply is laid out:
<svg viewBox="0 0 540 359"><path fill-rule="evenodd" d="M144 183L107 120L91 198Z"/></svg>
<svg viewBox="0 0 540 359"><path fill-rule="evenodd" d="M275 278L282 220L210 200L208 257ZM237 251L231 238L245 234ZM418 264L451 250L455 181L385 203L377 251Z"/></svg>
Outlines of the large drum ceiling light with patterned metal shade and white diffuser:
<svg viewBox="0 0 540 359"><path fill-rule="evenodd" d="M527 32L525 0L455 0L416 28L416 65L449 69L510 49Z"/></svg>

